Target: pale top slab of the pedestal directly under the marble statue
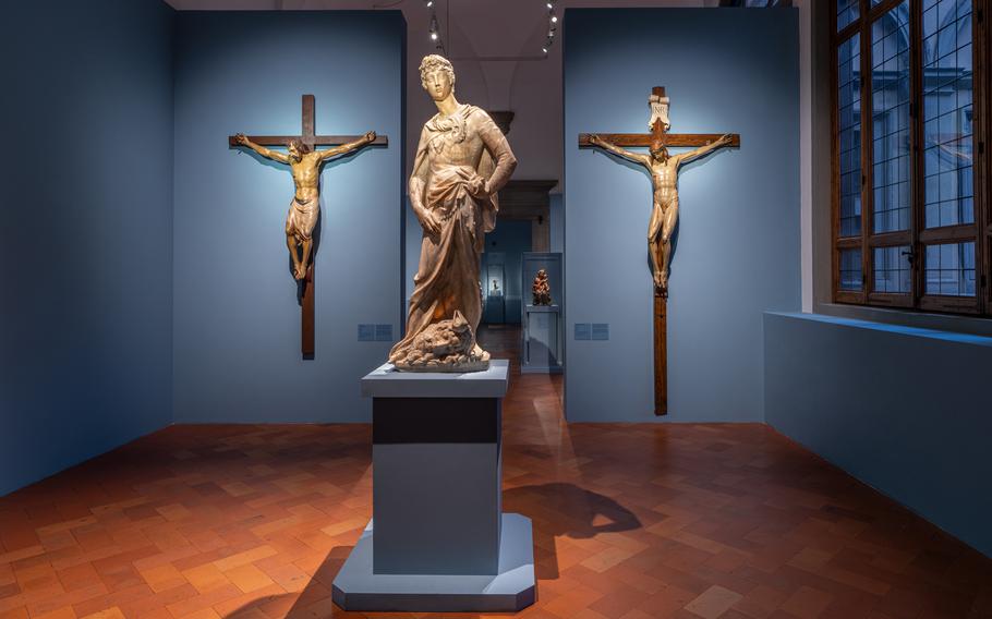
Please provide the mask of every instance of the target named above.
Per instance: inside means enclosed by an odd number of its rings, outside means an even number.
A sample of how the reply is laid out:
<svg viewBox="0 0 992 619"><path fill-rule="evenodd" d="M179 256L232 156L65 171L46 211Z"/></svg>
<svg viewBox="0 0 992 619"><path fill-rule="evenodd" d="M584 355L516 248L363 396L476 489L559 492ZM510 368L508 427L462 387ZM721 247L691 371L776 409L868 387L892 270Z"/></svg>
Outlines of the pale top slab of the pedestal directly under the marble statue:
<svg viewBox="0 0 992 619"><path fill-rule="evenodd" d="M362 378L365 398L503 398L510 362L495 359L485 372L397 372L384 363Z"/></svg>

